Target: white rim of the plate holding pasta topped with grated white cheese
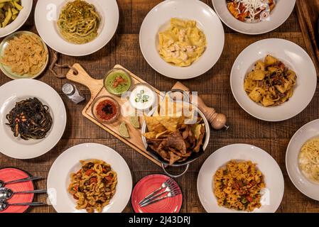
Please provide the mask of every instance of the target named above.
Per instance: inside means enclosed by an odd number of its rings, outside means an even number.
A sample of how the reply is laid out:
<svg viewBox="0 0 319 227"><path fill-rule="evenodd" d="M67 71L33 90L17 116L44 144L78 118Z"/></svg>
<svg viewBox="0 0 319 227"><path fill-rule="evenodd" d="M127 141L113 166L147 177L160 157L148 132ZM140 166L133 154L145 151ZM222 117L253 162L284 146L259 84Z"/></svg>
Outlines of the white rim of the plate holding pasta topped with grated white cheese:
<svg viewBox="0 0 319 227"><path fill-rule="evenodd" d="M266 23L269 23L269 21L261 21L261 22L257 22L257 23L245 23L242 21L237 20L236 18L234 18L234 16L232 16L232 13L229 12L229 10L227 9L227 4L226 4L226 0L212 0L212 5L214 6L214 9L217 13L217 15L220 17L220 19L222 20L223 23L225 23L226 26L228 26L229 28L231 28L234 31L237 31L239 33L243 33L243 34L247 34L247 35L259 35L259 34L264 34L264 33L269 33L270 31L274 31L276 28L279 28L281 25L283 25L283 23L285 23L287 21L287 19L289 18L289 16L291 15L291 13L293 12L294 6L296 4L296 0L276 0L279 1L277 2L277 6L275 6L274 10L271 12L271 18L274 18L274 20L277 20L277 23L274 23L274 26L270 26L269 28L264 28L264 31L252 31L254 29L258 29L258 26L260 27L260 25L264 25ZM223 6L222 4L224 4L225 6ZM286 14L281 14L278 11L278 4L281 3L279 6L281 6L282 8L285 7L285 5L283 5L283 3L287 3L289 4L290 8L288 8L287 13ZM281 8L281 9L282 9ZM274 15L274 13L276 13L276 15ZM227 22L229 21L229 22ZM238 28L238 26L242 26L243 28ZM253 28L253 29L252 29Z"/></svg>

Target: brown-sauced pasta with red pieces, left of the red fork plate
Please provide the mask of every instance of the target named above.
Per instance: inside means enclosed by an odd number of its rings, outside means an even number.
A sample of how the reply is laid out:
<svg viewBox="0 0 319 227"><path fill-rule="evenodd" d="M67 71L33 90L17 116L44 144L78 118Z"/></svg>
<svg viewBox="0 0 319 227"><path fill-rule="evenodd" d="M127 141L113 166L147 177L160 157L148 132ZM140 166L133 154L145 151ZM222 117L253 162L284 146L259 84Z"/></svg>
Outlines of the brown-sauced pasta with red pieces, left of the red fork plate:
<svg viewBox="0 0 319 227"><path fill-rule="evenodd" d="M68 192L77 200L76 209L102 212L116 192L117 172L102 160L80 162L82 168L71 174Z"/></svg>

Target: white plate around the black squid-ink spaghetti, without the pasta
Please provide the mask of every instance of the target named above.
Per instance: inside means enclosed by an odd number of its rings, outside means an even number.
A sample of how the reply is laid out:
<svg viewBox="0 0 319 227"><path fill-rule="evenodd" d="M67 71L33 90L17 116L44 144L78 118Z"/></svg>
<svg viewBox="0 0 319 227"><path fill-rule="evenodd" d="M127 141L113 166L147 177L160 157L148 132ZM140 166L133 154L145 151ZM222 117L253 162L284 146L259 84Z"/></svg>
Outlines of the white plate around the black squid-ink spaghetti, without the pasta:
<svg viewBox="0 0 319 227"><path fill-rule="evenodd" d="M49 106L53 126L45 138L23 140L14 137L6 125L6 114L16 106L16 102L28 98L38 98ZM67 121L65 106L59 94L48 84L35 79L16 79L0 87L0 152L9 157L29 159L51 150L62 137Z"/></svg>

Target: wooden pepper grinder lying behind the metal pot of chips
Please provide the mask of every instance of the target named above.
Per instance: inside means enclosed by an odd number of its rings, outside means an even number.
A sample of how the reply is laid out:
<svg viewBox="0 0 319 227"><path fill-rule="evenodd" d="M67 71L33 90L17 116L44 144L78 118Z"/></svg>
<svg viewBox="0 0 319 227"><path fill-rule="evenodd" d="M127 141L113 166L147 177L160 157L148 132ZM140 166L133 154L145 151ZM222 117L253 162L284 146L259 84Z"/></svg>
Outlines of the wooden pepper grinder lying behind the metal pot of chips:
<svg viewBox="0 0 319 227"><path fill-rule="evenodd" d="M180 89L184 92L190 92L190 89L188 89L188 87L185 87L185 85L180 82L177 82L172 89ZM191 94L190 101L193 102ZM194 101L193 104L196 104L196 101ZM225 130L227 130L229 128L229 126L226 125L227 118L225 114L218 114L214 108L206 106L204 101L202 101L199 96L197 96L197 104L198 109L200 109L200 111L202 111L202 114L206 116L207 121L210 122L212 128L217 130L220 130L222 128L225 128Z"/></svg>

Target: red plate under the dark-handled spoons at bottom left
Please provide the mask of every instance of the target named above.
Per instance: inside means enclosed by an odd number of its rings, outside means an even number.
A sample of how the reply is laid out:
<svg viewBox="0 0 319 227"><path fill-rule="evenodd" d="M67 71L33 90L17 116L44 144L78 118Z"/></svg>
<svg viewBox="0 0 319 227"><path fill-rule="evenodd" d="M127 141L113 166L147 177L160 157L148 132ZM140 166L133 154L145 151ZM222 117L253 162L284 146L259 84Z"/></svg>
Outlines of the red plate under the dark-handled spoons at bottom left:
<svg viewBox="0 0 319 227"><path fill-rule="evenodd" d="M9 182L15 179L23 179L30 177L28 173L23 170L18 170L16 168L4 168L0 170L0 179L4 182ZM34 185L32 181L21 182L16 184L7 184L5 187L11 189L13 192L24 192L34 190ZM8 200L9 204L32 202L34 194L13 194L12 198ZM6 210L0 211L1 213L23 213L28 209L29 206L9 206Z"/></svg>

